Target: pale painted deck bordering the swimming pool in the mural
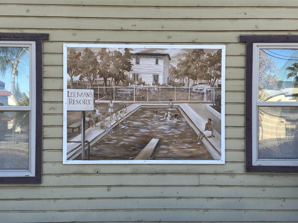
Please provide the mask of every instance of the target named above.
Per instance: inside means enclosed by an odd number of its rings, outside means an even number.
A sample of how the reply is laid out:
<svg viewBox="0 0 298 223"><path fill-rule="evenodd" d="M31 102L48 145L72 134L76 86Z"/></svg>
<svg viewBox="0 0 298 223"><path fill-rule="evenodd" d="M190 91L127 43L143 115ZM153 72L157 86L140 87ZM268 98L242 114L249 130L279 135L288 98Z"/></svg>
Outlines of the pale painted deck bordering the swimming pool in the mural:
<svg viewBox="0 0 298 223"><path fill-rule="evenodd" d="M133 114L139 107L161 107L161 108L169 108L167 103L134 103L132 105L127 106L127 113L124 115L125 117L129 117ZM184 116L188 121L188 123L193 127L194 131L199 134L200 132L205 130L205 124L208 120L207 109L205 108L205 104L188 104L188 103L174 103L173 107L180 107ZM114 111L115 112L115 111ZM119 111L117 111L119 112ZM205 114L205 115L204 115ZM105 118L105 120L109 121L110 117ZM122 121L121 121L122 122ZM111 125L113 128L118 125L117 122L112 121ZM100 129L99 127L91 127L85 131L85 139L90 142L90 146L97 142L100 138L102 138L107 132L104 129ZM208 148L209 152L213 156L214 159L219 159L221 154L221 134L219 134L216 130L213 131L213 135L215 137L206 138L204 137L202 142ZM196 140L196 139L194 139ZM81 134L75 136L69 141L81 141ZM72 160L74 156L80 154L80 147L74 152L74 148L78 147L80 143L68 142L67 143L67 159ZM71 155L70 155L71 154Z"/></svg>

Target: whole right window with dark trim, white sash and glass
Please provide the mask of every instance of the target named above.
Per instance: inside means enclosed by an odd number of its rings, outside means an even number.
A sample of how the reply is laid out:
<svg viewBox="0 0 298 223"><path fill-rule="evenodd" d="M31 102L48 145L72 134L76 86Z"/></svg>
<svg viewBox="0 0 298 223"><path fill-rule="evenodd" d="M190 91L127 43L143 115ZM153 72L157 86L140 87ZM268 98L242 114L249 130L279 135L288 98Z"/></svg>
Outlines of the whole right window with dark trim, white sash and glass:
<svg viewBox="0 0 298 223"><path fill-rule="evenodd" d="M297 172L298 36L240 41L247 42L246 171Z"/></svg>

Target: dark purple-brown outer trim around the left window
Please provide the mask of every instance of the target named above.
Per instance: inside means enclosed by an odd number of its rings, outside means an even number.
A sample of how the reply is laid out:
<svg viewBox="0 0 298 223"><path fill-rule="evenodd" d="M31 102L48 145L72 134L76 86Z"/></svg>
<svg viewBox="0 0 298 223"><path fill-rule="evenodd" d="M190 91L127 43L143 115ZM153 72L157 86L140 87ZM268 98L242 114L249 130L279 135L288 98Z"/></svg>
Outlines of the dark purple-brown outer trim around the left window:
<svg viewBox="0 0 298 223"><path fill-rule="evenodd" d="M42 173L42 40L49 40L46 33L0 33L1 41L35 41L36 60L36 127L35 127L35 176L0 177L0 183L41 183Z"/></svg>

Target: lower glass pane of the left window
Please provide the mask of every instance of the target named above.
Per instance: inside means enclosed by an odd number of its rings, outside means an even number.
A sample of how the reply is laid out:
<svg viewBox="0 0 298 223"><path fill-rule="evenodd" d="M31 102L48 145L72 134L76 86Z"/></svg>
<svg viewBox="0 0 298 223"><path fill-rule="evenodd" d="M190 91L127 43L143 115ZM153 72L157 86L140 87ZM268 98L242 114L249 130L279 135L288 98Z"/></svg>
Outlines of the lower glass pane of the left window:
<svg viewBox="0 0 298 223"><path fill-rule="evenodd" d="M29 169L29 112L0 112L0 169Z"/></svg>

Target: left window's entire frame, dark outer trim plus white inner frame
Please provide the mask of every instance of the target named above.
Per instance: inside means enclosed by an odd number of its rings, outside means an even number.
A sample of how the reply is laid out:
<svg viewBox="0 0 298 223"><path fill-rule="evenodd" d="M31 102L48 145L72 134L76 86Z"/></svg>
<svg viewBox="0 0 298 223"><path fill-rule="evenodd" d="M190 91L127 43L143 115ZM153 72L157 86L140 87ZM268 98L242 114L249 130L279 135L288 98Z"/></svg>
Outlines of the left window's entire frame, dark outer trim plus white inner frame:
<svg viewBox="0 0 298 223"><path fill-rule="evenodd" d="M30 163L31 167L28 171L7 170L0 171L0 183L41 183L42 175L42 40L49 40L49 34L43 33L0 33L1 43L11 43L11 45L26 45L31 42L32 46L32 62L31 69L35 70L35 80L30 81L30 91L35 89L35 98L30 94L30 125L35 122L35 126L30 127L29 137L35 142L31 142ZM5 41L5 42L4 42ZM10 46L8 45L7 46ZM34 52L33 52L34 51ZM35 56L35 58L34 58ZM33 67L34 66L34 67ZM34 73L32 73L34 75ZM33 76L32 76L33 77ZM35 106L35 107L34 107ZM9 109L3 107L1 110L26 111L28 108ZM30 172L30 174L29 174ZM4 174L6 173L6 174ZM10 174L9 174L10 173Z"/></svg>

